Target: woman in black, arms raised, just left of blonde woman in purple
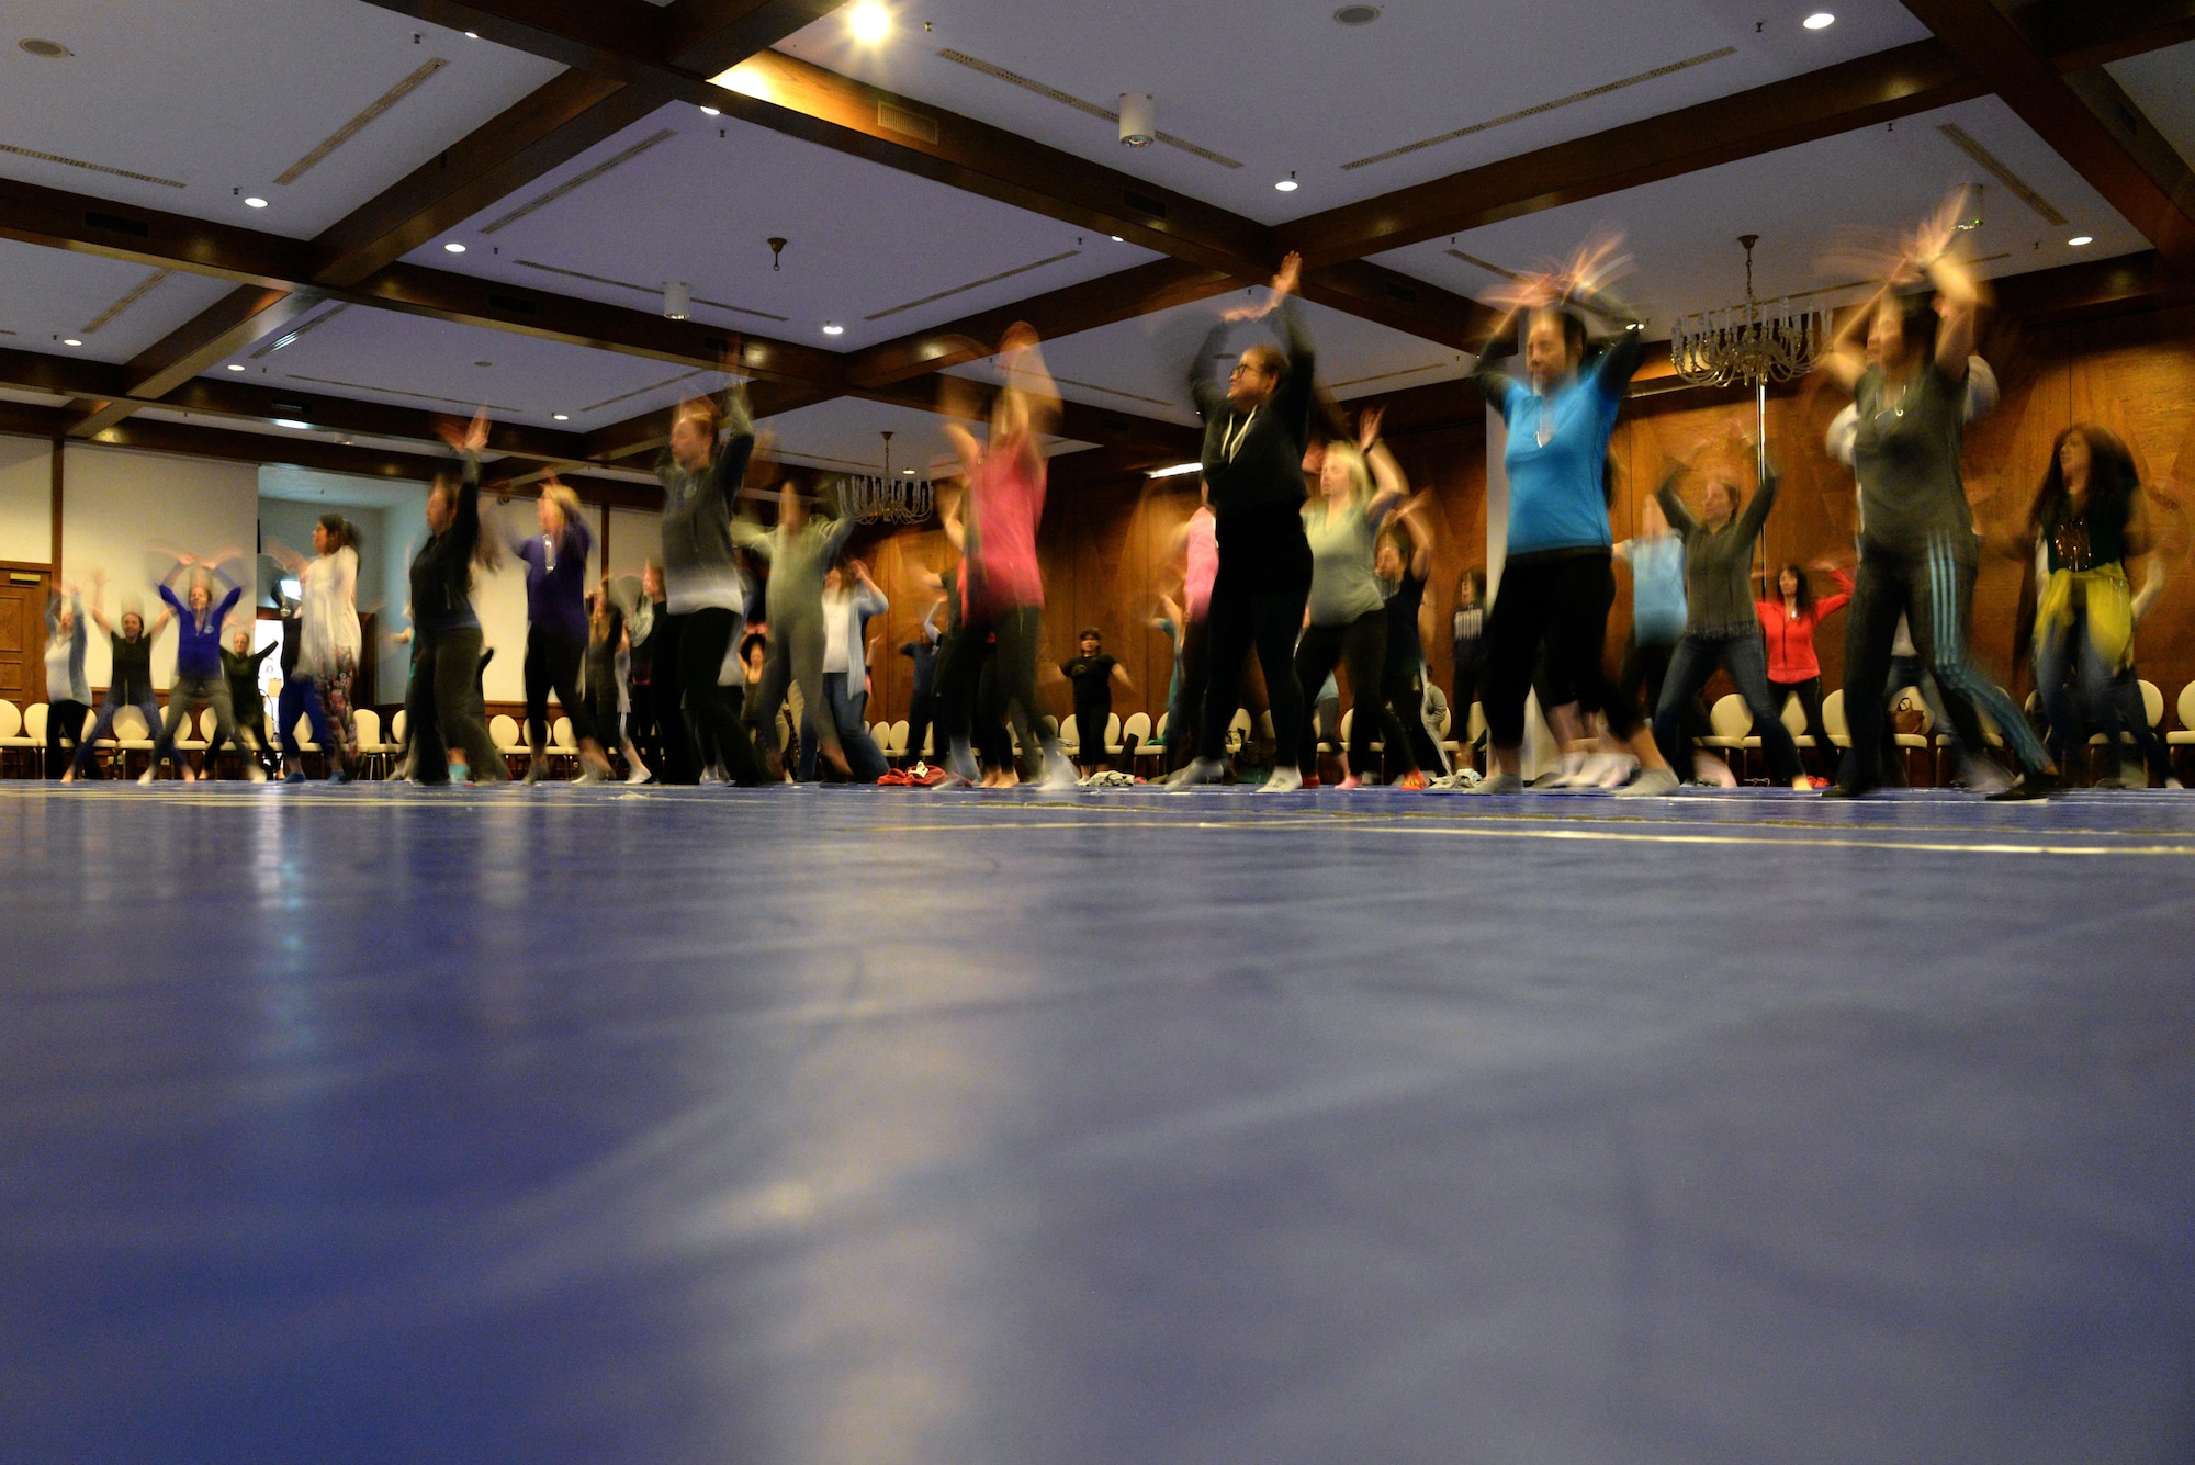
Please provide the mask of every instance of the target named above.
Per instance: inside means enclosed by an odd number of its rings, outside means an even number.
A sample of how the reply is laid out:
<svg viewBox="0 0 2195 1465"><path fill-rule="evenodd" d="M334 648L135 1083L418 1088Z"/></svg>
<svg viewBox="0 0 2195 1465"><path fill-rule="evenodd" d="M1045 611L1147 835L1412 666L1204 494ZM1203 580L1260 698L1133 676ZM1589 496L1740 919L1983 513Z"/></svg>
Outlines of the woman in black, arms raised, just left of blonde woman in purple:
<svg viewBox="0 0 2195 1465"><path fill-rule="evenodd" d="M404 722L410 726L413 783L450 781L450 748L465 752L472 783L503 783L503 754L481 715L481 616L472 610L472 568L494 566L496 542L481 535L481 450L487 417L448 434L465 456L463 476L435 478L426 493L426 544L413 555L413 684Z"/></svg>

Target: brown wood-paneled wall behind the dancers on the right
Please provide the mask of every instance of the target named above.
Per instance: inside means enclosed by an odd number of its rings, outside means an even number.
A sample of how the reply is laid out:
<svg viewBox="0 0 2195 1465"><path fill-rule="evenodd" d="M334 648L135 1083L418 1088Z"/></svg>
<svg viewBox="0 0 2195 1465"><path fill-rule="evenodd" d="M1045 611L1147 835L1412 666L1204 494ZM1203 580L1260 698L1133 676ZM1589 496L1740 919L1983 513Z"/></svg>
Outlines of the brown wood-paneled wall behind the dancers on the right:
<svg viewBox="0 0 2195 1465"><path fill-rule="evenodd" d="M2171 579L2155 612L2136 640L2142 675L2155 682L2166 704L2195 680L2195 564L2191 511L2195 511L2195 307L2151 311L2103 322L2022 331L1997 325L1984 338L1984 355L1997 371L2004 399L1995 414L1967 434L1967 489L1975 520L1989 529L2015 526L2028 509L2057 434L2072 423L2101 423L2123 436L2149 487L2151 515L2169 548ZM1455 579L1468 566L1486 564L1486 441L1484 408L1468 386L1447 388L1453 412L1409 428L1392 428L1396 450L1411 482L1431 489L1438 504L1438 544L1427 601L1440 625L1455 601ZM1850 557L1855 502L1850 472L1822 447L1831 417L1844 406L1817 379L1780 388L1769 399L1769 443L1785 476L1780 502L1769 515L1765 553L1771 566L1809 564L1824 553ZM1420 414L1422 417L1422 414ZM1616 537L1637 529L1640 500L1659 487L1679 458L1732 452L1732 432L1749 436L1754 404L1745 393L1701 399L1684 393L1670 399L1640 399L1624 408L1611 452L1618 491L1611 507ZM1749 478L1747 478L1749 482ZM1181 581L1174 531L1196 504L1194 478L1080 480L1073 458L1054 463L1054 485L1045 509L1040 553L1047 577L1047 660L1073 656L1082 625L1104 629L1106 649L1117 656L1137 693L1115 697L1115 708L1163 711L1172 654L1163 634L1148 629L1161 590ZM871 542L871 568L891 597L885 645L878 660L871 719L904 717L909 662L896 647L913 634L928 607L915 588L918 564L948 568L953 553L937 531L909 531ZM1820 583L1820 581L1817 581ZM2013 684L2013 634L2022 568L1984 555L1975 594L1973 649L1993 675ZM1629 579L1618 568L1618 607L1609 623L1609 654L1620 651L1631 627ZM1844 671L1844 616L1820 636L1822 671L1835 686ZM1449 647L1438 636L1427 647L1433 675L1447 684ZM2024 665L2019 667L2024 675ZM1067 689L1049 689L1054 711L1067 713ZM2171 711L2166 711L2171 722Z"/></svg>

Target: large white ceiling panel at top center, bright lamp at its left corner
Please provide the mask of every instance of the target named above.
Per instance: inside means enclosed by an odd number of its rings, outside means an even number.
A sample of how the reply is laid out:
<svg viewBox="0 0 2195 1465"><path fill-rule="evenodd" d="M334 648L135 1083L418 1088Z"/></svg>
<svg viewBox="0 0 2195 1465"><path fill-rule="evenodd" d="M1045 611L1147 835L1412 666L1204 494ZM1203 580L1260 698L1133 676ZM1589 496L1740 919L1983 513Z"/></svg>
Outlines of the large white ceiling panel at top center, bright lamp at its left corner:
<svg viewBox="0 0 2195 1465"><path fill-rule="evenodd" d="M1837 24L1800 26L1824 4L1381 0L1378 20L1343 26L1335 0L1115 0L1040 18L1025 0L926 0L891 4L878 46L856 44L841 13L781 50L1280 224L1927 35L1896 0L1842 0L1826 4ZM1113 110L1122 92L1152 94L1159 132L1240 167L1163 140L1122 147L1115 123L1073 105ZM1291 171L1302 189L1277 193Z"/></svg>

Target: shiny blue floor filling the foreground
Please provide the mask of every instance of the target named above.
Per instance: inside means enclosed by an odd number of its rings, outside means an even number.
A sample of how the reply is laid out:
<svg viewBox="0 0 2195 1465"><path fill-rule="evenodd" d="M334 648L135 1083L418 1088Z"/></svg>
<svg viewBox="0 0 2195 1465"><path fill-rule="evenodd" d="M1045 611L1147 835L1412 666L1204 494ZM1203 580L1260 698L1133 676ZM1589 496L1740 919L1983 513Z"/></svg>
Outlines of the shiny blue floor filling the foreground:
<svg viewBox="0 0 2195 1465"><path fill-rule="evenodd" d="M0 1458L2195 1458L2195 796L0 785Z"/></svg>

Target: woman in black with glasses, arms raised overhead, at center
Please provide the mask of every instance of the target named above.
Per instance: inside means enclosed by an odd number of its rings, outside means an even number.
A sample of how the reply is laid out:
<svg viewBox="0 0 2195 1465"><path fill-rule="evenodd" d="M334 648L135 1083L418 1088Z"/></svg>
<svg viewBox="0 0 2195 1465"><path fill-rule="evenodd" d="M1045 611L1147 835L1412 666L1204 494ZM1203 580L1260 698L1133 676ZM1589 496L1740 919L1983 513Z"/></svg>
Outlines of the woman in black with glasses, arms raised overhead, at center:
<svg viewBox="0 0 2195 1465"><path fill-rule="evenodd" d="M1209 684L1205 689L1198 757L1174 774L1177 783L1216 783L1227 765L1214 757L1227 746L1227 724L1242 691L1242 662L1251 647L1264 669L1273 704L1273 776L1264 792L1304 787L1297 768L1304 737L1304 689L1295 682L1295 636L1310 601L1310 540L1304 533L1304 452L1310 447L1310 338L1288 305L1302 254L1288 254L1273 276L1264 307L1227 311L1205 336L1190 368L1190 395L1205 419L1205 491L1216 518L1220 570L1207 612ZM1236 357L1227 386L1218 384L1220 344L1229 327L1280 311L1286 355L1267 344Z"/></svg>

